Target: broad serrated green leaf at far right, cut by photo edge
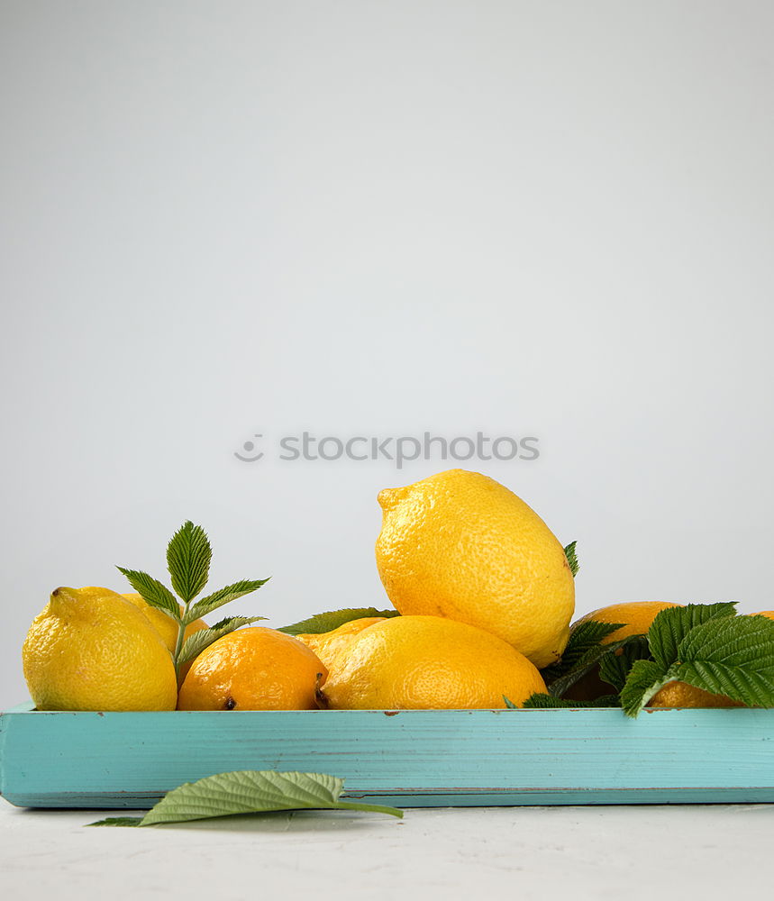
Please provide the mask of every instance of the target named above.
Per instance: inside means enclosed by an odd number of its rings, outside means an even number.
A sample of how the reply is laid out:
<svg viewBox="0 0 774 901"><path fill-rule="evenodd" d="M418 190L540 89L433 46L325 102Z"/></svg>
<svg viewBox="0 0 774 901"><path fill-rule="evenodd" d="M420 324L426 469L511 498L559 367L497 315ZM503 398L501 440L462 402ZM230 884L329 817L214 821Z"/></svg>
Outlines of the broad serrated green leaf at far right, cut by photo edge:
<svg viewBox="0 0 774 901"><path fill-rule="evenodd" d="M678 647L677 677L748 706L774 707L774 621L733 616L695 626Z"/></svg>

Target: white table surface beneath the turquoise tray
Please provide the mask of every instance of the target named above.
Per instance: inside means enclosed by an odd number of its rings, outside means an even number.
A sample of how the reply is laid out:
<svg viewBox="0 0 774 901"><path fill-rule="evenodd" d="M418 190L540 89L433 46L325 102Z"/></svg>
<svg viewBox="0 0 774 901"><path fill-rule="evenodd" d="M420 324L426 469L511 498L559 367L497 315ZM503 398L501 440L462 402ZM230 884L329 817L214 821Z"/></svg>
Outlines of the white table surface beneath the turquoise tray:
<svg viewBox="0 0 774 901"><path fill-rule="evenodd" d="M0 800L3 895L736 901L767 897L774 882L774 805L414 809L402 821L305 811L84 828L105 815Z"/></svg>

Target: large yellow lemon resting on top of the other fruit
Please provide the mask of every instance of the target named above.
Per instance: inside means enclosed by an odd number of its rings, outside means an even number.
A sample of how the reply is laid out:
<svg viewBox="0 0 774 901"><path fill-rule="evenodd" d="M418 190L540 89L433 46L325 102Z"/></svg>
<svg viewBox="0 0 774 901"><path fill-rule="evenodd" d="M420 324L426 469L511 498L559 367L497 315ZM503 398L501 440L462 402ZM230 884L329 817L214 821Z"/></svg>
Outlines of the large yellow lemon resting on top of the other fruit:
<svg viewBox="0 0 774 901"><path fill-rule="evenodd" d="M377 567L401 614L478 626L544 667L569 638L575 580L533 509L478 472L381 491Z"/></svg>

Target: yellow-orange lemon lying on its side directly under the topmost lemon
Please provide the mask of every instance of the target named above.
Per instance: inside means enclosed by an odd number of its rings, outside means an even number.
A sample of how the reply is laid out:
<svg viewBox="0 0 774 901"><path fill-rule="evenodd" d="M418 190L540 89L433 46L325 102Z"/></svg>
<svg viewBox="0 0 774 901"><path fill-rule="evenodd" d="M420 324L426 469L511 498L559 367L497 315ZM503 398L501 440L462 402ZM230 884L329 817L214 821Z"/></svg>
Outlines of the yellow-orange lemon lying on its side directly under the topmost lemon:
<svg viewBox="0 0 774 901"><path fill-rule="evenodd" d="M339 709L502 708L544 692L524 654L492 633L440 616L370 625L337 658L323 688Z"/></svg>

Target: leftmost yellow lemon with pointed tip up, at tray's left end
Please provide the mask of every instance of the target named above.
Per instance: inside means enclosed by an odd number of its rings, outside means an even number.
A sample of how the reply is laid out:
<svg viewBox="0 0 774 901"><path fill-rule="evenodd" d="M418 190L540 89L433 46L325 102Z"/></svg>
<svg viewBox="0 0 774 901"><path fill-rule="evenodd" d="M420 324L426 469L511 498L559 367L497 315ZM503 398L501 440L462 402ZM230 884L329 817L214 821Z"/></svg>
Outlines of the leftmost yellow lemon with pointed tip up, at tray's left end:
<svg viewBox="0 0 774 901"><path fill-rule="evenodd" d="M32 622L24 678L39 710L174 710L172 657L137 607L108 588L66 588Z"/></svg>

